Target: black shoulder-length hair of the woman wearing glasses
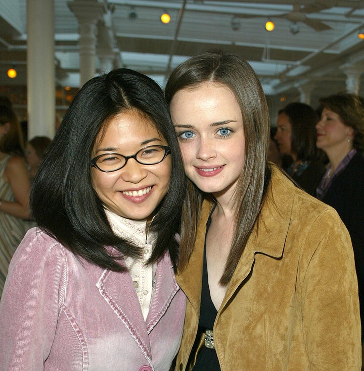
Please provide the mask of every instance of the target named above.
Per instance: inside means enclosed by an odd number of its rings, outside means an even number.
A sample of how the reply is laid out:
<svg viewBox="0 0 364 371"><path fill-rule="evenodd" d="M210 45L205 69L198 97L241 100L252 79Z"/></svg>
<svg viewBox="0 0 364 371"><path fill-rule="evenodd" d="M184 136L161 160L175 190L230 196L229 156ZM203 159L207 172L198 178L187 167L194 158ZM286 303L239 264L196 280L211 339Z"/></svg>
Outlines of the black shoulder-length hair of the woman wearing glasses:
<svg viewBox="0 0 364 371"><path fill-rule="evenodd" d="M184 170L163 91L141 73L114 70L89 80L79 90L35 176L30 196L32 215L43 231L102 268L122 272L121 256L141 255L139 247L112 232L90 169L99 134L116 115L130 110L148 117L171 148L170 185L150 225L158 238L149 262L168 250L176 267L175 234L185 194ZM106 246L118 253L110 253Z"/></svg>

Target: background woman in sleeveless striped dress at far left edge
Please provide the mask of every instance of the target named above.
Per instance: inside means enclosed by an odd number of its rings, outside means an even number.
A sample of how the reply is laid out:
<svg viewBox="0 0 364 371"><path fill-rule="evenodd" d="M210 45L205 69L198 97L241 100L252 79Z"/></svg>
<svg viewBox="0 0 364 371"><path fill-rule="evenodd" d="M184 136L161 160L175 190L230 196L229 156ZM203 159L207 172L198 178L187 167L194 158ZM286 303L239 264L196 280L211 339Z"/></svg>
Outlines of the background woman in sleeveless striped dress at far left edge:
<svg viewBox="0 0 364 371"><path fill-rule="evenodd" d="M0 106L0 297L9 262L29 218L30 182L20 125L15 112Z"/></svg>

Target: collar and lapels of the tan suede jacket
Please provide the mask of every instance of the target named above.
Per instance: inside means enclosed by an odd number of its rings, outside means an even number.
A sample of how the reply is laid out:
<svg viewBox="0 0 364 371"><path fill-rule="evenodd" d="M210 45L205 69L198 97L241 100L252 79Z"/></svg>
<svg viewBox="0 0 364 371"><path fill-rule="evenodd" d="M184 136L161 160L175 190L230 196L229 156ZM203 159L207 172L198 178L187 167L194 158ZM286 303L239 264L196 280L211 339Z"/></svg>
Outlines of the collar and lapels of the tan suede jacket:
<svg viewBox="0 0 364 371"><path fill-rule="evenodd" d="M271 170L272 175L259 221L254 225L244 253L229 283L221 308L249 275L256 253L273 258L280 258L283 254L291 220L295 186L276 166L272 165ZM179 286L185 291L197 313L200 312L206 223L212 207L212 202L204 201L194 251L187 268L183 272L178 272L177 276Z"/></svg>

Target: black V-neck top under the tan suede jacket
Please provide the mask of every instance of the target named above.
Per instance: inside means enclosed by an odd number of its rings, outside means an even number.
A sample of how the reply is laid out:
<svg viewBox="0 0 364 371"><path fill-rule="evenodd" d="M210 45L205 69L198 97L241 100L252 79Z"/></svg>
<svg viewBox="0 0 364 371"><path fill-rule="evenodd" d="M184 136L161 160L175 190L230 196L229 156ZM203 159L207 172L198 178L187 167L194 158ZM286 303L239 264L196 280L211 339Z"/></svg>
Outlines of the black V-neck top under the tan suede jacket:
<svg viewBox="0 0 364 371"><path fill-rule="evenodd" d="M211 216L206 224L206 234L211 224ZM202 291L201 291L201 306L200 320L197 339L201 338L201 334L206 330L212 330L215 323L217 310L211 300L210 288L208 285L207 261L206 261L206 237L204 248L204 262L202 271ZM220 371L220 364L217 358L215 349L202 347L200 350L193 371Z"/></svg>

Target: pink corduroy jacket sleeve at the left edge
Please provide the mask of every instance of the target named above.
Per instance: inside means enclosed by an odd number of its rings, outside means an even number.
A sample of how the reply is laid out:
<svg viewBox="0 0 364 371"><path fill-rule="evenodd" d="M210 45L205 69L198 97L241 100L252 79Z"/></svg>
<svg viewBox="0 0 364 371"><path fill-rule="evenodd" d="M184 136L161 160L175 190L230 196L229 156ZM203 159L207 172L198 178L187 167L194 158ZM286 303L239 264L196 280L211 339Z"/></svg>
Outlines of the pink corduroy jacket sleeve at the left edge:
<svg viewBox="0 0 364 371"><path fill-rule="evenodd" d="M0 302L0 369L44 369L64 292L64 249L30 230L10 263Z"/></svg>

